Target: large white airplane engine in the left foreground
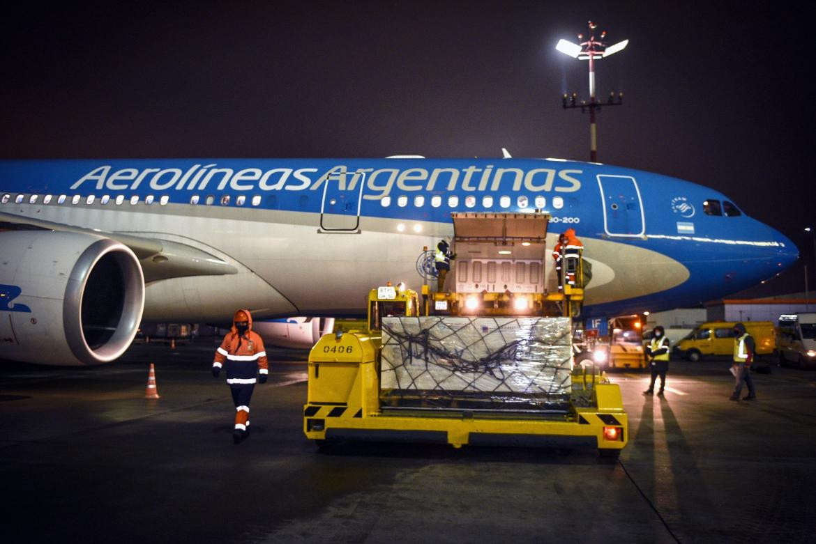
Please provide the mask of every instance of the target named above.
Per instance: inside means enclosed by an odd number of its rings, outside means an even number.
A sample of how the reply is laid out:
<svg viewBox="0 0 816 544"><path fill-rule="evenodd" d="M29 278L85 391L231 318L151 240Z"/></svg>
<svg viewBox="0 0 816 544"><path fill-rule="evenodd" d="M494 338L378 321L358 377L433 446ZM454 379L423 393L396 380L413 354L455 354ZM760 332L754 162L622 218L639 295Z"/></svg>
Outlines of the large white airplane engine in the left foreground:
<svg viewBox="0 0 816 544"><path fill-rule="evenodd" d="M0 231L0 358L98 365L130 346L144 309L134 253L103 236Z"/></svg>

